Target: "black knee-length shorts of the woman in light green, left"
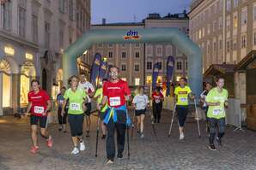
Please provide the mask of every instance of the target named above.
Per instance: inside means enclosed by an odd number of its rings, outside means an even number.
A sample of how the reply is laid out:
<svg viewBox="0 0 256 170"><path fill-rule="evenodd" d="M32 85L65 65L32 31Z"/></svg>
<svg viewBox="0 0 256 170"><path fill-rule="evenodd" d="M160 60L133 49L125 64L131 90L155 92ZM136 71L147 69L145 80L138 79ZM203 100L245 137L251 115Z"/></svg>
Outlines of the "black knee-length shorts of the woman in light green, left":
<svg viewBox="0 0 256 170"><path fill-rule="evenodd" d="M70 132L72 137L82 136L83 114L69 114Z"/></svg>

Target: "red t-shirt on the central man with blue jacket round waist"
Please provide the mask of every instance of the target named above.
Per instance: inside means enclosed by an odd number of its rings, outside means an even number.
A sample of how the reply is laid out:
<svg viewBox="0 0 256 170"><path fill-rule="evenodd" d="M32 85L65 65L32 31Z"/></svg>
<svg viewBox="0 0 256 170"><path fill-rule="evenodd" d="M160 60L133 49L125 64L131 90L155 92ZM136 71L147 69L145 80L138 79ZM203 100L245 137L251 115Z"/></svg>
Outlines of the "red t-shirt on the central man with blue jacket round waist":
<svg viewBox="0 0 256 170"><path fill-rule="evenodd" d="M122 79L119 79L117 83L107 81L103 85L103 96L107 96L108 106L119 108L125 105L125 96L130 95L128 84Z"/></svg>

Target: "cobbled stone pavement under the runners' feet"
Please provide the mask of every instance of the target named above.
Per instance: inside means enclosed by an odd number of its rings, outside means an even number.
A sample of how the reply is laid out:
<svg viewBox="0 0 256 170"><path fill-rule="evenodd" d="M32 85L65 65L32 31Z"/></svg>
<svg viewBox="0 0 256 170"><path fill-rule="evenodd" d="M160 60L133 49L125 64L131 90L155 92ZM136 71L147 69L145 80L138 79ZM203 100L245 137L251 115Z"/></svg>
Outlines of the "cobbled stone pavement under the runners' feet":
<svg viewBox="0 0 256 170"><path fill-rule="evenodd" d="M196 122L190 119L186 123L186 139L179 141L176 122L168 138L170 119L170 112L164 111L161 124L155 126L155 138L148 116L145 138L137 138L135 131L130 138L130 160L126 148L124 159L106 165L105 140L100 139L99 155L94 157L95 118L91 136L86 139L87 149L72 156L70 133L58 132L58 125L49 126L54 138L53 148L47 148L45 140L40 138L40 153L32 155L29 153L32 143L27 119L3 117L0 118L0 170L256 169L256 132L233 132L229 127L222 140L223 146L210 151L203 121L200 123L202 138L198 138Z"/></svg>

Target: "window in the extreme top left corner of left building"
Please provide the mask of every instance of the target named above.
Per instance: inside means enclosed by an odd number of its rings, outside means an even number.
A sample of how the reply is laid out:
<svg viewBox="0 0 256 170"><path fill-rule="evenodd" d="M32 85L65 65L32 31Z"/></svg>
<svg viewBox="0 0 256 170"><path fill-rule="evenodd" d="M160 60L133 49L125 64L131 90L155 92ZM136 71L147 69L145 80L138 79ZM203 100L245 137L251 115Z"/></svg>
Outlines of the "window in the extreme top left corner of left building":
<svg viewBox="0 0 256 170"><path fill-rule="evenodd" d="M2 25L3 25L3 29L5 30L10 30L10 26L11 26L11 3L10 2L6 2L3 3L1 6L1 15L2 15Z"/></svg>

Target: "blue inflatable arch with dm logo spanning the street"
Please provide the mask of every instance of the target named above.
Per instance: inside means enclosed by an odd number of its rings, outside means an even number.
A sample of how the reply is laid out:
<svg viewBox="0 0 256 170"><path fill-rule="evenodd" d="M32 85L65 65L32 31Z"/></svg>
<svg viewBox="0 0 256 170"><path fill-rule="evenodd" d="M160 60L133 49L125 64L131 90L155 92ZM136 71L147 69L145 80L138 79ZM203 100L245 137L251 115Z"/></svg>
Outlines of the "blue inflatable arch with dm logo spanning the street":
<svg viewBox="0 0 256 170"><path fill-rule="evenodd" d="M93 44L99 43L170 43L182 51L188 60L188 81L192 91L199 97L202 91L202 52L198 45L178 28L136 28L91 30L78 38L64 51L64 84L77 74L76 58L82 56Z"/></svg>

